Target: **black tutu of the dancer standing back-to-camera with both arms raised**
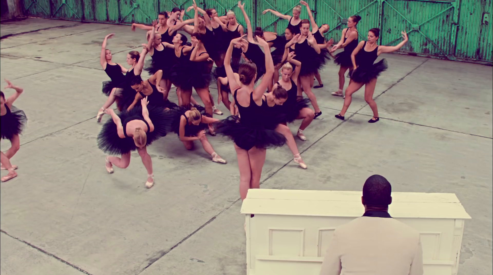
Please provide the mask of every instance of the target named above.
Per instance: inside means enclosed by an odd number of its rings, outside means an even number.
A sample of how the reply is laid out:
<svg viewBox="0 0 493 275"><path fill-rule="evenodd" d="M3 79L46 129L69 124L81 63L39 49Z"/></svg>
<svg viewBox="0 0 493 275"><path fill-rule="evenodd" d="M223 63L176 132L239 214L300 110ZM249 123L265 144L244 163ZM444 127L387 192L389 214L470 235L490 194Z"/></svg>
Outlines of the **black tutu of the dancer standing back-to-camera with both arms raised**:
<svg viewBox="0 0 493 275"><path fill-rule="evenodd" d="M245 150L250 150L253 147L280 147L286 143L286 138L272 128L246 127L239 120L238 116L232 115L214 122L216 134L231 138L238 147Z"/></svg>

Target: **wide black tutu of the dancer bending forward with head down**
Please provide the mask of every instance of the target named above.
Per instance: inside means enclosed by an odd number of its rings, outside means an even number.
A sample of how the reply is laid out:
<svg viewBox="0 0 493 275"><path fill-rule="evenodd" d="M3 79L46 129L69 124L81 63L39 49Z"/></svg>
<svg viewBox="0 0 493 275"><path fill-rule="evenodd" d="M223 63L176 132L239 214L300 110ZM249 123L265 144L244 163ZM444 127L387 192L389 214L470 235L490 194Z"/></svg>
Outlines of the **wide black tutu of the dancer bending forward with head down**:
<svg viewBox="0 0 493 275"><path fill-rule="evenodd" d="M149 118L154 125L154 131L147 133L146 145L148 146L154 140L166 136L167 132L171 132L174 117L169 110L163 110L161 107L147 106L147 109ZM129 112L123 111L118 114L122 122L131 116L142 117L142 107L138 106ZM98 135L98 147L109 155L121 155L137 150L133 138L120 138L118 136L118 131L112 118L106 121Z"/></svg>

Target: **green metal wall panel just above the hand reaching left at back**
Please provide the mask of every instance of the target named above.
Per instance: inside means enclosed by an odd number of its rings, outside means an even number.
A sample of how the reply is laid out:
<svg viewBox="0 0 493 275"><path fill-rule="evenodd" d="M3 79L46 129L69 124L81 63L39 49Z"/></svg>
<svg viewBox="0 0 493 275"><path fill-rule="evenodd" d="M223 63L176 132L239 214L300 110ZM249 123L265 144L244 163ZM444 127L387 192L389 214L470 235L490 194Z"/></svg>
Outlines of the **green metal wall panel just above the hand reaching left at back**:
<svg viewBox="0 0 493 275"><path fill-rule="evenodd" d="M120 0L120 23L150 25L157 18L157 10L154 0Z"/></svg>

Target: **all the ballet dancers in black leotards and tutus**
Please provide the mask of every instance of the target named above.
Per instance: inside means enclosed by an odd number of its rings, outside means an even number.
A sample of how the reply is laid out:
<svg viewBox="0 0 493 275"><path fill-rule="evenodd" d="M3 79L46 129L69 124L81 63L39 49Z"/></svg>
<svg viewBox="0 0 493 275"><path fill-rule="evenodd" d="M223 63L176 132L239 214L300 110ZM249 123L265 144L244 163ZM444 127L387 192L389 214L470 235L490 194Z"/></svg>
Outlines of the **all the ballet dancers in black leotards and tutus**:
<svg viewBox="0 0 493 275"><path fill-rule="evenodd" d="M302 5L309 19L300 18ZM100 63L110 78L103 82L102 89L108 98L96 118L101 122L105 114L111 116L98 135L99 148L110 155L106 157L108 173L114 172L113 166L127 168L130 153L137 150L147 170L145 187L151 188L154 176L146 147L169 133L176 133L188 150L194 148L194 140L199 140L211 160L221 164L226 160L214 151L207 134L231 138L237 152L242 199L248 189L259 188L266 148L287 144L294 162L307 169L287 123L302 120L296 137L307 140L304 131L322 114L312 87L323 87L319 70L330 57L340 66L339 89L332 95L344 97L343 108L335 117L344 120L352 94L364 85L365 101L374 114L368 122L379 121L373 93L377 77L387 69L387 64L385 59L375 61L381 53L401 48L408 40L405 32L403 41L396 46L379 46L379 29L369 30L367 40L358 42L357 25L362 18L353 15L334 45L333 39L324 37L329 26L318 26L303 0L293 8L292 15L271 9L263 12L288 20L283 34L264 32L260 27L253 30L245 4L239 1L238 7L246 30L233 11L219 16L215 9L204 10L195 1L186 10L194 11L193 19L183 20L185 11L174 8L171 12L160 12L152 26L132 24L132 31L147 31L147 43L142 44L141 52L133 50L127 54L129 69L112 61L106 46L114 34L106 35ZM178 33L180 30L190 34L190 41ZM343 51L333 55L338 49ZM144 65L146 55L151 57L149 65ZM141 78L143 70L149 73L146 80ZM343 93L348 70L351 80ZM318 85L314 87L315 79ZM231 113L222 120L212 117L214 113L222 115L209 90L213 81L217 84L217 103L222 102ZM16 93L7 100L1 94L1 137L12 143L9 150L1 153L1 169L8 170L1 181L17 176L17 167L9 160L19 148L19 134L26 121L24 112L12 106L22 89L7 83L6 88L15 89ZM168 99L172 85L176 87L177 104ZM193 89L202 104L192 96ZM110 108L113 103L118 111Z"/></svg>

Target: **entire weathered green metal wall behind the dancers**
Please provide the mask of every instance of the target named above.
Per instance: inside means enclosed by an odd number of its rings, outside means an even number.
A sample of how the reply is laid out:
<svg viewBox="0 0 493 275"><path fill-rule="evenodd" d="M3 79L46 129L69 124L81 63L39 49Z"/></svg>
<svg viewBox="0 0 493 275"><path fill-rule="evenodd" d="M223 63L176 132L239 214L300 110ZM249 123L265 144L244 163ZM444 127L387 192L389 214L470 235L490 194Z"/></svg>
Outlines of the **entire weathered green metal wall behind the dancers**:
<svg viewBox="0 0 493 275"><path fill-rule="evenodd" d="M158 11L173 7L186 9L192 0L21 0L26 16L66 19L84 22L150 24ZM237 0L197 0L219 14L233 10L245 25ZM342 19L354 14L362 17L358 24L360 39L371 28L380 28L380 43L395 44L400 32L408 31L409 43L401 53L449 60L492 64L492 0L308 0L319 25L329 24L327 38L338 41L345 28ZM283 33L287 20L279 19L265 9L291 14L296 0L250 0L246 12L253 28ZM185 15L190 18L193 12ZM302 6L301 18L308 18Z"/></svg>

